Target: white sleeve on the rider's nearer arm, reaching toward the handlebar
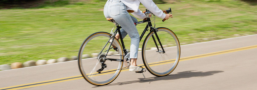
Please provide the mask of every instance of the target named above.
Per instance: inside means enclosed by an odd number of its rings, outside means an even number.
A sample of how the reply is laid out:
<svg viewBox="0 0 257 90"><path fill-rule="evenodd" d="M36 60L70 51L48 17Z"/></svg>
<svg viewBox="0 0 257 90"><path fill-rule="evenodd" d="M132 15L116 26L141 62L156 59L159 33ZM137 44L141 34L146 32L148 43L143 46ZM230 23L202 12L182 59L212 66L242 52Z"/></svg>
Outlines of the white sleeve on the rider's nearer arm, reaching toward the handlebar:
<svg viewBox="0 0 257 90"><path fill-rule="evenodd" d="M139 0L149 11L151 11L156 16L164 19L166 14L163 13L162 10L157 7L157 5L153 2L153 0Z"/></svg>

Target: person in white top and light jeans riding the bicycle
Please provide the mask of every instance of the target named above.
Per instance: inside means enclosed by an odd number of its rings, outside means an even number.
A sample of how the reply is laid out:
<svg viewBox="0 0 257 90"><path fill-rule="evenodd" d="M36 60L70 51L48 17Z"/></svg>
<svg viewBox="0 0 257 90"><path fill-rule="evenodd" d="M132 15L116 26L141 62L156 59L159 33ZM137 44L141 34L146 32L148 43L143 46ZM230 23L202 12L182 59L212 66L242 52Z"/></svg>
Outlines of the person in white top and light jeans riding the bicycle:
<svg viewBox="0 0 257 90"><path fill-rule="evenodd" d="M146 19L142 11L138 9L139 4L142 3L149 11L162 19L169 19L172 14L164 14L152 0L108 0L104 6L104 16L106 18L114 19L122 29L121 34L124 38L127 34L131 38L130 56L131 65L129 71L146 71L145 68L140 68L136 64L139 46L139 34L135 26L137 18ZM132 13L135 17L129 15ZM119 40L119 34L115 36Z"/></svg>

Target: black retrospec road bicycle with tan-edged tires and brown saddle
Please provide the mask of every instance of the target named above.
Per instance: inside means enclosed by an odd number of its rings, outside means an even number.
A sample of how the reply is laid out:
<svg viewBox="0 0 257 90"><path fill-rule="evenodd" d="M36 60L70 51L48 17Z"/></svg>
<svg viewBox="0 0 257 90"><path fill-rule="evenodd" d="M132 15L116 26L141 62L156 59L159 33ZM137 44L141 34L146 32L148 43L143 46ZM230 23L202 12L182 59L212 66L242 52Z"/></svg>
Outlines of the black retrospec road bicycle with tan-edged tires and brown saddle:
<svg viewBox="0 0 257 90"><path fill-rule="evenodd" d="M165 13L171 13L171 8L163 10ZM168 28L155 28L151 24L150 18L154 15L149 10L144 11L146 20L136 22L135 25L145 23L146 27L140 36L140 41L147 31L150 32L145 37L142 45L142 59L146 69L155 76L166 76L170 74L177 66L180 58L180 44L177 36ZM155 15L154 15L155 17ZM117 27L113 33L96 32L89 35L82 43L79 54L79 69L86 81L93 85L107 85L114 81L121 70L128 69L130 65L129 52L125 49L120 29L122 28L112 18L107 18ZM155 21L155 19L153 20ZM163 19L163 22L165 19ZM119 33L120 42L115 38ZM157 41L156 41L157 40ZM116 47L114 47L114 46ZM152 46L154 48L150 49ZM111 52L118 52L111 55ZM95 53L97 57L83 59L83 54ZM127 67L123 67L122 65ZM108 67L107 67L108 66ZM142 72L138 72L142 73Z"/></svg>

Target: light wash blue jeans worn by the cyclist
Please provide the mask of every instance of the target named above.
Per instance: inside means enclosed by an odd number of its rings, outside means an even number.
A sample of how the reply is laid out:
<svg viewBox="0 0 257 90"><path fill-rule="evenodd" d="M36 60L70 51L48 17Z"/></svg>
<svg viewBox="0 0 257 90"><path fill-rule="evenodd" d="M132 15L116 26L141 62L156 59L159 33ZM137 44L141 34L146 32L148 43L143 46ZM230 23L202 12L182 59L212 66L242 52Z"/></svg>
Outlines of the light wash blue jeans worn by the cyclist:
<svg viewBox="0 0 257 90"><path fill-rule="evenodd" d="M129 58L137 58L139 46L139 34L135 26L137 19L130 16L127 7L119 0L108 0L103 9L106 18L114 19L121 27L122 38L129 35L130 42L130 56Z"/></svg>

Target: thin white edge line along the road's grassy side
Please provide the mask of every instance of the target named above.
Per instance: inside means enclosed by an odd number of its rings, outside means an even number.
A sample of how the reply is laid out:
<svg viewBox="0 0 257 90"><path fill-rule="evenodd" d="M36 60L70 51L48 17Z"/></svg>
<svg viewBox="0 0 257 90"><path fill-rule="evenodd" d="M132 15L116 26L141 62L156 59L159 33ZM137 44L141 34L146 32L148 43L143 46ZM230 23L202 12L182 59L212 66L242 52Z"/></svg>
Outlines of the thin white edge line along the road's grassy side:
<svg viewBox="0 0 257 90"><path fill-rule="evenodd" d="M255 34L257 35L257 34ZM246 35L246 36L240 36L240 37L234 37L234 38L242 38L242 37L249 37L249 36L254 36L254 35ZM220 40L214 40L214 41L222 41L222 40L228 40L228 39L234 39L234 38L225 38L225 39L220 39ZM202 43L208 43L208 42L214 42L214 41L206 41L206 42L200 42L200 43L194 43L194 44L202 44ZM187 45L194 45L194 44L187 44ZM187 45L181 45L181 46L187 46ZM138 51L142 52L142 51ZM95 57L93 57L95 58ZM90 59L90 58L86 58ZM78 60L73 60L73 61L78 61ZM65 62L57 62L57 63L52 63L52 64L59 64L59 63L66 63L66 62L71 62L71 61L65 61ZM51 65L51 64L44 64L44 65ZM44 65L38 65L38 66L44 66ZM38 67L38 66L31 66L31 67ZM29 68L29 67L23 67L23 68L17 68L17 69L24 69L24 68ZM17 70L17 69L10 69L10 70ZM8 70L2 70L2 71L8 71ZM2 72L0 71L0 72Z"/></svg>

